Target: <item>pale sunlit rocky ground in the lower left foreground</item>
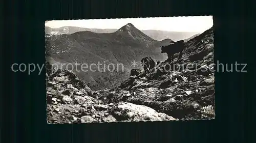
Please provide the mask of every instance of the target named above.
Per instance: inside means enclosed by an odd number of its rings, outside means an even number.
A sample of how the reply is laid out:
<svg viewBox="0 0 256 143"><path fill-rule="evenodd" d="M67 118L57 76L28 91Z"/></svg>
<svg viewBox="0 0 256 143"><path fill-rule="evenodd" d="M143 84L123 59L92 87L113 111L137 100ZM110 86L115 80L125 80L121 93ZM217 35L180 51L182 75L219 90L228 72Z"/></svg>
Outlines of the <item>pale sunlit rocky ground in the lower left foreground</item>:
<svg viewBox="0 0 256 143"><path fill-rule="evenodd" d="M49 63L47 67L51 68ZM177 120L165 113L127 102L103 103L77 75L67 70L47 69L48 123L91 123Z"/></svg>

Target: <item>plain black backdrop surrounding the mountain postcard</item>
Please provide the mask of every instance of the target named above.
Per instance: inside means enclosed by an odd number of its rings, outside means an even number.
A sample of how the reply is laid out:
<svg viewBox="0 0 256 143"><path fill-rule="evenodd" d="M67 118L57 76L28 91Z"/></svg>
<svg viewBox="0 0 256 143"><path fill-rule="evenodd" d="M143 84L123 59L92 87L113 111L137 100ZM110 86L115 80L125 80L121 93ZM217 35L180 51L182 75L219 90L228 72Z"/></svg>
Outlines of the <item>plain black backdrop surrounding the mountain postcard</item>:
<svg viewBox="0 0 256 143"><path fill-rule="evenodd" d="M4 1L0 7L3 142L250 142L255 92L248 73L254 65L247 62L255 48L248 45L254 40L254 21L244 2L27 0ZM46 121L45 69L40 75L38 69L31 75L11 71L13 63L45 63L46 20L199 15L214 15L215 61L247 63L247 73L215 74L215 120L51 125Z"/></svg>

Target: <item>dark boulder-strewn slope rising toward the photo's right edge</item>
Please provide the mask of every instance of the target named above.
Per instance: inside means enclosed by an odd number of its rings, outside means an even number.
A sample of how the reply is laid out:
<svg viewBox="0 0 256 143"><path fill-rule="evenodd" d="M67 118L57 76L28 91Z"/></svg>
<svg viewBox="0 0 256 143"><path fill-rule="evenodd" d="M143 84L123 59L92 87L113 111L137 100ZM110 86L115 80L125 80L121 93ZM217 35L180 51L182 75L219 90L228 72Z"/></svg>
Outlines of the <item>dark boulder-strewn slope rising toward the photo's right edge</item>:
<svg viewBox="0 0 256 143"><path fill-rule="evenodd" d="M189 40L185 46L180 61L175 54L173 61L166 60L160 68L152 69L148 78L143 74L130 77L118 88L99 91L98 98L104 103L145 105L179 120L214 119L213 28ZM110 92L114 93L111 98Z"/></svg>

